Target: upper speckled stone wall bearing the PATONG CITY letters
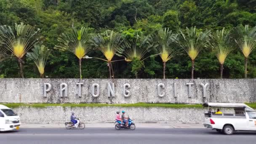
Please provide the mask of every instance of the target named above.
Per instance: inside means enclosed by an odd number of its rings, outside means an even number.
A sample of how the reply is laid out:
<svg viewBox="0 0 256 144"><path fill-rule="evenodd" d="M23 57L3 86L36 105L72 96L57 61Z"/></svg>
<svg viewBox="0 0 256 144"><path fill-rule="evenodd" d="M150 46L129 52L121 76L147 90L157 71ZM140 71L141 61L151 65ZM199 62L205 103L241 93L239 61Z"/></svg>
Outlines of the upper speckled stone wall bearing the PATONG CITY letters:
<svg viewBox="0 0 256 144"><path fill-rule="evenodd" d="M7 103L200 104L204 101L256 102L256 79L0 79L0 102Z"/></svg>

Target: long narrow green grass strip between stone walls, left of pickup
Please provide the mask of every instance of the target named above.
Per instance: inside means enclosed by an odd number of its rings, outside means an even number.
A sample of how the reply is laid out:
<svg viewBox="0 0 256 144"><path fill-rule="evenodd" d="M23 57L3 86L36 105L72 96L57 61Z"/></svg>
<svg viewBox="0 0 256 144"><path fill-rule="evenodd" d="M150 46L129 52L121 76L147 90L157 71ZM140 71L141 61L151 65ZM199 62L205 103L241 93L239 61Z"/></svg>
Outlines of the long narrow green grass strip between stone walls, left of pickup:
<svg viewBox="0 0 256 144"><path fill-rule="evenodd" d="M35 108L45 108L45 107L165 107L165 108L202 108L201 104L147 104L147 103L136 103L136 104L25 104L25 103L1 103L10 108L17 107L35 107Z"/></svg>

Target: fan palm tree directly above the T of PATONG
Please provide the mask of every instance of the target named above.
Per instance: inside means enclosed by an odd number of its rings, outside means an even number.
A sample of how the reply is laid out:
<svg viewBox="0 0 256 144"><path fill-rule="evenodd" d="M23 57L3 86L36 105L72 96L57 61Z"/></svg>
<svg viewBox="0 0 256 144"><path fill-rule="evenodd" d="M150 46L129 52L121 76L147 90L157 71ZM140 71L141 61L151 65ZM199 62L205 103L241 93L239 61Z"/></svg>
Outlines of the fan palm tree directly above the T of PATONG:
<svg viewBox="0 0 256 144"><path fill-rule="evenodd" d="M72 28L71 32L60 35L58 38L59 45L55 46L56 49L70 51L77 56L79 59L80 78L82 78L81 61L90 50L90 39L91 35L87 28L81 27L79 30Z"/></svg>

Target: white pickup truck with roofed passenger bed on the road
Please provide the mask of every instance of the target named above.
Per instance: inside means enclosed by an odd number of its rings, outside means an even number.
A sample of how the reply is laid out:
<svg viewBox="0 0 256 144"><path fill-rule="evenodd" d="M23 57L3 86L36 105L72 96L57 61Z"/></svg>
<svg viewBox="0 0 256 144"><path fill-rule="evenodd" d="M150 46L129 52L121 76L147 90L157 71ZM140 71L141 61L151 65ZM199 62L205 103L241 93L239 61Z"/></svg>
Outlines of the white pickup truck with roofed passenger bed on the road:
<svg viewBox="0 0 256 144"><path fill-rule="evenodd" d="M234 131L256 131L256 112L246 104L204 103L209 109L219 108L222 112L206 112L203 125L227 135Z"/></svg>

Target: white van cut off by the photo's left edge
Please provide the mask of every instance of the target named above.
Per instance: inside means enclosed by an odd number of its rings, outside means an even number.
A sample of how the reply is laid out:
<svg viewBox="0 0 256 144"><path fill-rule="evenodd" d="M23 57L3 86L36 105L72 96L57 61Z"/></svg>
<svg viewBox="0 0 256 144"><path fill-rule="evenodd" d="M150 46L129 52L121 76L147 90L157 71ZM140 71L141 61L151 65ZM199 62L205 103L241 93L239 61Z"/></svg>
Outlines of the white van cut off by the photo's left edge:
<svg viewBox="0 0 256 144"><path fill-rule="evenodd" d="M12 109L0 104L0 131L19 130L20 117Z"/></svg>

